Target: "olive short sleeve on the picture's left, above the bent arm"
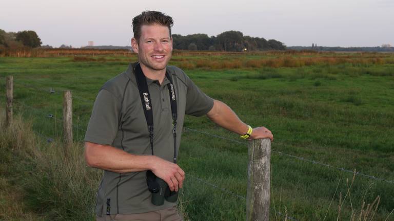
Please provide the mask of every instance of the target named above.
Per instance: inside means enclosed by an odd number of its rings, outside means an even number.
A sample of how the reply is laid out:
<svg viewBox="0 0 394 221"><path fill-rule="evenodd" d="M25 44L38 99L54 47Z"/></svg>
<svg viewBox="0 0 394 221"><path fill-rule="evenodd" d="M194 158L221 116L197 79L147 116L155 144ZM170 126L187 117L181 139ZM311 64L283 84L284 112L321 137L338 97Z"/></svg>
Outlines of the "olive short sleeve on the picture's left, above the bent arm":
<svg viewBox="0 0 394 221"><path fill-rule="evenodd" d="M116 137L121 102L107 90L100 90L94 102L85 141L111 145Z"/></svg>

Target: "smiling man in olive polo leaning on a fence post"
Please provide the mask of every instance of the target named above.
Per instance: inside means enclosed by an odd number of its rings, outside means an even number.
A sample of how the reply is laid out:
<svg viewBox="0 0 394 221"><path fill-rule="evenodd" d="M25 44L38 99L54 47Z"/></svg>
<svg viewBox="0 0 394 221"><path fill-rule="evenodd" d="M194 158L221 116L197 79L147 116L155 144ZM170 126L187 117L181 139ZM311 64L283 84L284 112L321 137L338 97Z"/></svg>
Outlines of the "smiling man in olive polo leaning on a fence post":
<svg viewBox="0 0 394 221"><path fill-rule="evenodd" d="M131 45L139 62L106 82L97 95L85 136L87 164L105 171L97 192L97 220L182 220L176 202L152 204L147 171L170 191L182 188L185 172L174 162L185 114L207 115L244 138L273 140L267 128L252 129L226 104L202 93L182 70L167 66L172 25L172 18L161 12L134 17ZM147 93L141 92L139 74ZM148 110L153 113L151 134Z"/></svg>

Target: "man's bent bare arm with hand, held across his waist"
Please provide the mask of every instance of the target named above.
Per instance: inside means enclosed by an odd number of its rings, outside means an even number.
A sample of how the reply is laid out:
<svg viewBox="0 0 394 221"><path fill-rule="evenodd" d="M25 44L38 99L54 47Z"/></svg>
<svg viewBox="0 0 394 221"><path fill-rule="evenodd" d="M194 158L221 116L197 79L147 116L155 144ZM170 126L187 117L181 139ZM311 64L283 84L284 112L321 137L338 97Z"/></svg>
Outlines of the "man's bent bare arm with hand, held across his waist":
<svg viewBox="0 0 394 221"><path fill-rule="evenodd" d="M182 188L185 179L185 172L174 163L156 156L134 155L109 145L85 142L85 160L90 167L118 173L151 170L171 191Z"/></svg>

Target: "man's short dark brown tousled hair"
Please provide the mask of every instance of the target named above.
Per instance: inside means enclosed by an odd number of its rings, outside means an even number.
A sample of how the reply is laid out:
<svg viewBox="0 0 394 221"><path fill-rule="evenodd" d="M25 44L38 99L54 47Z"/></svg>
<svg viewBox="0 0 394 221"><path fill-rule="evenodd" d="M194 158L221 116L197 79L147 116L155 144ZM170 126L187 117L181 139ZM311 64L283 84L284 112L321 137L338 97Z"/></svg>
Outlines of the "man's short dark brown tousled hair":
<svg viewBox="0 0 394 221"><path fill-rule="evenodd" d="M172 17L158 11L144 11L141 14L133 18L133 32L134 38L139 40L141 37L141 27L143 25L154 25L159 24L162 26L167 26L170 31L171 37L171 27L174 25Z"/></svg>

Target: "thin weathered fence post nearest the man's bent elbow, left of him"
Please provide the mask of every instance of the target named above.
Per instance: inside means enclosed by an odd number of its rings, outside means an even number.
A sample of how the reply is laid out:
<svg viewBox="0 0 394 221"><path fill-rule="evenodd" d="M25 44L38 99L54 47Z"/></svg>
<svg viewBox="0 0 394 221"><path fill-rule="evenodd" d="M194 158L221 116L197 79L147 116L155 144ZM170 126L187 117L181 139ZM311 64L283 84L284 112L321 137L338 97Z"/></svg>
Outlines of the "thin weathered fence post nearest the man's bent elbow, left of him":
<svg viewBox="0 0 394 221"><path fill-rule="evenodd" d="M63 95L63 136L67 147L72 144L72 98L71 91Z"/></svg>

